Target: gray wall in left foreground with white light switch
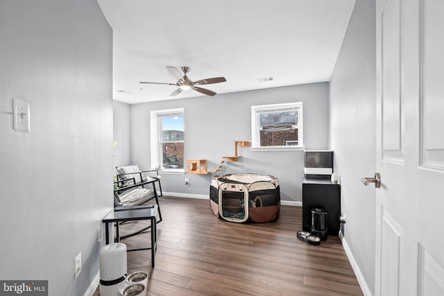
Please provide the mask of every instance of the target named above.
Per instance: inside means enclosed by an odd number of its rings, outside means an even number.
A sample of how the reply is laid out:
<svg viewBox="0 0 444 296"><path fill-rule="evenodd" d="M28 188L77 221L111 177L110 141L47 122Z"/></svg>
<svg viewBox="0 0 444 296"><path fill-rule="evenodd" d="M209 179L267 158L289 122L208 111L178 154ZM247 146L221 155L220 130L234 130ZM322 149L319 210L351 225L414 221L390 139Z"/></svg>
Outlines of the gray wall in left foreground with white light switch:
<svg viewBox="0 0 444 296"><path fill-rule="evenodd" d="M0 279L83 295L113 206L112 31L95 0L2 0L0 40ZM15 97L29 133L12 128Z"/></svg>

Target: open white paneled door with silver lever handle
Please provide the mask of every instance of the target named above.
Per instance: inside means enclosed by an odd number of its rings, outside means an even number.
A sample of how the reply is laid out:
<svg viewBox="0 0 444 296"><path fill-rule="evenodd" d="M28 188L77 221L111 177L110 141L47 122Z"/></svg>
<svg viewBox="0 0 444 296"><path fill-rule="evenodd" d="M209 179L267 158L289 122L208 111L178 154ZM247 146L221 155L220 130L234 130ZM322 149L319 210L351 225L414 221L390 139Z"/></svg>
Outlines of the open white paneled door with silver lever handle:
<svg viewBox="0 0 444 296"><path fill-rule="evenodd" d="M375 294L444 295L444 1L377 0L376 39Z"/></svg>

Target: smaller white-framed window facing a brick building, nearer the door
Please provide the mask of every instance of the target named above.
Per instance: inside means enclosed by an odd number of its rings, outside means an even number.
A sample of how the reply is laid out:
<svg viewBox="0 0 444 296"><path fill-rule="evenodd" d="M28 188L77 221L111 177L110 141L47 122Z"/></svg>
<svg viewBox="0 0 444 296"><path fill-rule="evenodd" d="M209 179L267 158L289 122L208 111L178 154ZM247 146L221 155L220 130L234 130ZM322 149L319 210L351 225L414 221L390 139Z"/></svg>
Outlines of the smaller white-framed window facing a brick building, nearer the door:
<svg viewBox="0 0 444 296"><path fill-rule="evenodd" d="M252 148L303 148L302 102L251 107Z"/></svg>

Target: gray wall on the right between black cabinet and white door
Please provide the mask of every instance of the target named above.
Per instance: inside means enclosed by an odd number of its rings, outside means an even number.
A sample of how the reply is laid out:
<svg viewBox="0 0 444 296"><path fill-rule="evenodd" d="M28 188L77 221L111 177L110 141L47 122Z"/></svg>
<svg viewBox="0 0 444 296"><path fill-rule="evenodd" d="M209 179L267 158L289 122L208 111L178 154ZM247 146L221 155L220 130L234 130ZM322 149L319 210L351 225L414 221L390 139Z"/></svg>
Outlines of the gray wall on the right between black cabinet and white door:
<svg viewBox="0 0 444 296"><path fill-rule="evenodd" d="M357 0L330 80L330 147L341 175L342 214L348 216L345 241L366 286L375 286L376 166L375 1Z"/></svg>

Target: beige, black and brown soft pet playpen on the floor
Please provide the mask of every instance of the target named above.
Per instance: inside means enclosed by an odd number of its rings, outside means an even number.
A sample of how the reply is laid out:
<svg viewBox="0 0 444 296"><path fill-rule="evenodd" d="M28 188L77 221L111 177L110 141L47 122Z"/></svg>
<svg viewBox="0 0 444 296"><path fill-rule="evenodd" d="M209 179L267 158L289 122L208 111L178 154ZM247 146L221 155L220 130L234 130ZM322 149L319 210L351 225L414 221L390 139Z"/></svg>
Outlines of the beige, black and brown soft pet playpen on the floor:
<svg viewBox="0 0 444 296"><path fill-rule="evenodd" d="M280 212L280 189L277 178L244 174L215 176L210 185L213 214L230 222L269 222Z"/></svg>

